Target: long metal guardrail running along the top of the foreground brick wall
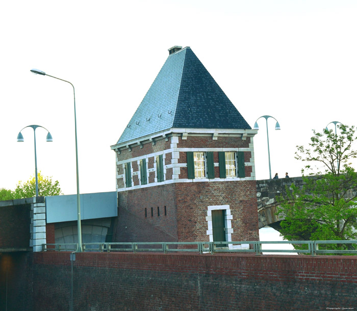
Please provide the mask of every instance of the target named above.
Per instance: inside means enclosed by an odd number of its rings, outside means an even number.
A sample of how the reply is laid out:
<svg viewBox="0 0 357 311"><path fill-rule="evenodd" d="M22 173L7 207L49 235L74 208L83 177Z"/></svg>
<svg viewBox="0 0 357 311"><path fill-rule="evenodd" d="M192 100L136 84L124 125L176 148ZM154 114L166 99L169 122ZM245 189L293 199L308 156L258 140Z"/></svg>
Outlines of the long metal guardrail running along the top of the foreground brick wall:
<svg viewBox="0 0 357 311"><path fill-rule="evenodd" d="M263 244L306 244L307 249L262 249ZM319 249L319 245L348 244L352 249L334 250ZM230 242L112 242L83 243L83 251L99 252L196 252L203 253L305 253L311 256L318 254L354 254L357 255L357 240L334 241L230 241ZM42 244L42 251L76 251L77 243Z"/></svg>

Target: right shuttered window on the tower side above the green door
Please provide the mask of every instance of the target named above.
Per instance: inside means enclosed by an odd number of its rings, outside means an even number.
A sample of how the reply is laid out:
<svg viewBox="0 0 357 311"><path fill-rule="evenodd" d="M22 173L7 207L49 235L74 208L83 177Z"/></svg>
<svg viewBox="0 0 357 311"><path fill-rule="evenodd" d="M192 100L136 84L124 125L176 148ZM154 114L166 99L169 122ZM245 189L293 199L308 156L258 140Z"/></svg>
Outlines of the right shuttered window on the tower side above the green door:
<svg viewBox="0 0 357 311"><path fill-rule="evenodd" d="M218 152L219 177L245 177L244 152ZM237 172L238 168L238 172Z"/></svg>

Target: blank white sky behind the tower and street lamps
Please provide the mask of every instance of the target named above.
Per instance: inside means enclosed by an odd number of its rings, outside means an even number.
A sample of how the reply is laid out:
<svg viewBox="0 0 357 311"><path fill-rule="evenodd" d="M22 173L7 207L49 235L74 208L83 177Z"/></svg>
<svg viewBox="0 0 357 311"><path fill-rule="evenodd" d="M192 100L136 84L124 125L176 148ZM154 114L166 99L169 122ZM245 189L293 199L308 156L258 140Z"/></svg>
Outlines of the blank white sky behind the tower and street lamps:
<svg viewBox="0 0 357 311"><path fill-rule="evenodd" d="M295 146L327 123L356 124L357 2L3 1L0 188L14 189L37 163L76 193L73 83L80 190L115 190L116 143L173 45L190 46L253 126L269 119L272 175L299 176ZM269 178L265 120L254 138L257 179ZM331 127L332 128L332 127Z"/></svg>

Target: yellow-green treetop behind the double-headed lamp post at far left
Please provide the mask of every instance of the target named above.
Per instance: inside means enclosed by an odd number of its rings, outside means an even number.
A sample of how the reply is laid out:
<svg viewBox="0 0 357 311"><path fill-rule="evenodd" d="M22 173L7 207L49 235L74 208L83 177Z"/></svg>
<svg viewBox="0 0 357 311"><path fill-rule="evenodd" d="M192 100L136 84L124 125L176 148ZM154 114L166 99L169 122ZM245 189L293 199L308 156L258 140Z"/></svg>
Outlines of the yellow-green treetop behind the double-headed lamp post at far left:
<svg viewBox="0 0 357 311"><path fill-rule="evenodd" d="M58 180L52 181L52 177L42 176L41 172L37 175L38 178L38 195L53 196L63 194ZM35 174L25 183L18 182L13 191L14 199L32 198L36 196L36 178Z"/></svg>

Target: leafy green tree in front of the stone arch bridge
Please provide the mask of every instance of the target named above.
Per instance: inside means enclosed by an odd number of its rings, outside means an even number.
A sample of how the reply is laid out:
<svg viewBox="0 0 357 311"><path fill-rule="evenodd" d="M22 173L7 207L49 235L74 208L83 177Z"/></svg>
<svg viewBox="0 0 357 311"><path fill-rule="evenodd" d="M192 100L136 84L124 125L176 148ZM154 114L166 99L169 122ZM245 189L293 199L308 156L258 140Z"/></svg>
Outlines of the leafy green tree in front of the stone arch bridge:
<svg viewBox="0 0 357 311"><path fill-rule="evenodd" d="M295 158L308 164L301 170L302 189L292 185L278 209L285 216L281 234L286 240L357 239L357 174L350 163L357 157L352 148L357 137L354 126L338 127L339 135L314 130L310 147L297 146ZM346 249L351 244L332 246Z"/></svg>

